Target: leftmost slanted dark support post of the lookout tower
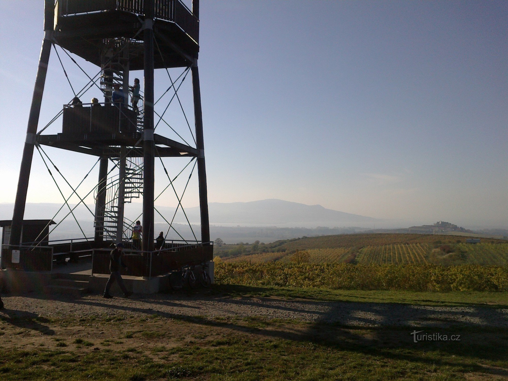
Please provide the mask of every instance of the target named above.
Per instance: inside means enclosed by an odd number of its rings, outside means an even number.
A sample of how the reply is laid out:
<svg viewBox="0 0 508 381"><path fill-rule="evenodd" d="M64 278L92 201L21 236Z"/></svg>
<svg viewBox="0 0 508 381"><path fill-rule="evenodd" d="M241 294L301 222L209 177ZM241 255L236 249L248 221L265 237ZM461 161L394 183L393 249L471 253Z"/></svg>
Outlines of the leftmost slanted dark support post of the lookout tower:
<svg viewBox="0 0 508 381"><path fill-rule="evenodd" d="M47 6L46 2L46 6ZM48 27L45 24L45 27ZM28 116L28 125L26 128L26 140L21 158L21 167L19 169L18 188L16 191L16 201L14 202L14 212L12 215L11 236L9 243L18 245L21 240L21 229L23 216L25 214L26 193L28 192L28 179L30 177L31 163L34 155L34 145L36 144L37 127L39 125L39 114L41 112L42 94L46 82L46 73L48 71L49 54L51 52L51 40L53 30L44 31L44 40L42 42L41 55L39 57L39 67L35 80L34 94Z"/></svg>

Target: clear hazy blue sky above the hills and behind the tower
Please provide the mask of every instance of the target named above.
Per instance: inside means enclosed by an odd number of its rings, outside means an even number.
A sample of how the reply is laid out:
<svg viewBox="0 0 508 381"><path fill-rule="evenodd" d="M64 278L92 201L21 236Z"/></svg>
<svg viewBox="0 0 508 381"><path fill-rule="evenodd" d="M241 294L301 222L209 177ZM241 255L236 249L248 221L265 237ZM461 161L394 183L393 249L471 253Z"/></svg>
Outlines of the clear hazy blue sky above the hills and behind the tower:
<svg viewBox="0 0 508 381"><path fill-rule="evenodd" d="M13 202L43 1L0 0L0 11L0 202ZM508 2L202 0L200 25L209 201L279 198L378 218L508 226ZM73 85L86 84L59 53ZM40 126L72 98L51 54ZM164 71L156 78L157 95L169 82ZM189 85L190 76L182 102L193 125ZM99 95L91 89L83 100ZM165 119L192 139L178 108ZM48 133L58 128L61 119ZM73 183L95 161L46 151ZM184 161L165 163L176 174ZM157 189L164 176L158 168ZM83 189L96 179L97 171ZM176 205L170 196L156 204ZM60 200L36 154L28 201ZM196 176L184 200L198 205Z"/></svg>

